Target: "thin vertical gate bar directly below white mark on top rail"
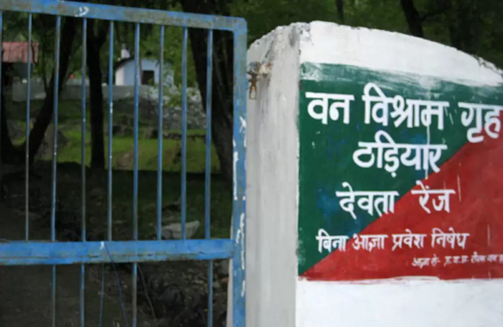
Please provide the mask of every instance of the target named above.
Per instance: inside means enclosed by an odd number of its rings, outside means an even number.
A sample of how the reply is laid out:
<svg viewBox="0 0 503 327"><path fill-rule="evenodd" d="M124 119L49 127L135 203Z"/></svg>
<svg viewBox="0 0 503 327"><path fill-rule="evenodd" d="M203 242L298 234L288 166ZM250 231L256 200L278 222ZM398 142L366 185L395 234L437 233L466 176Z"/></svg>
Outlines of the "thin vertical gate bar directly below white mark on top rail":
<svg viewBox="0 0 503 327"><path fill-rule="evenodd" d="M86 60L87 60L87 34L88 34L88 20L82 19L82 67L81 67L81 127L80 127L80 187L81 187L81 241L86 241ZM86 268L85 265L80 265L80 327L85 327L85 289L86 289Z"/></svg>

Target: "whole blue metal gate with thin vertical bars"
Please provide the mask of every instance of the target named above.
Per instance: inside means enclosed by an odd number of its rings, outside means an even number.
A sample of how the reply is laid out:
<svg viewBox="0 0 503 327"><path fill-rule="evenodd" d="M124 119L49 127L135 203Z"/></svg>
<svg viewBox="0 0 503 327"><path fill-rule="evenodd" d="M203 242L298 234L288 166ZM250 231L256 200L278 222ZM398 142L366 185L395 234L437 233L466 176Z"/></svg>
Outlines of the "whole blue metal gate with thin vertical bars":
<svg viewBox="0 0 503 327"><path fill-rule="evenodd" d="M197 0L194 0L197 1ZM28 44L31 44L32 15L46 14L54 15L56 24L56 44L55 44L55 88L54 88L54 134L53 134L53 158L52 158L52 200L51 200L51 241L40 242L28 239L28 196L26 203L26 240L24 241L0 241L0 266L16 265L52 265L51 280L51 300L52 300L52 321L56 316L55 296L56 296L56 266L68 264L81 264L81 300L83 298L84 282L83 275L85 264L92 263L133 263L132 284L137 284L137 263L166 261L166 260L208 260L209 276L212 276L212 260L231 259L232 260L232 323L233 326L244 326L244 305L245 305L245 271L244 271L244 215L245 215L245 101L246 101L246 22L240 18L219 17L211 15L188 14L181 12L168 12L158 10L125 8L115 6L96 5L90 3L66 2L57 0L4 0L0 1L0 41L2 40L3 14L5 12L23 12L28 15ZM134 82L134 184L133 184L133 240L114 241L112 240L112 165L108 165L108 238L104 241L86 241L85 224L85 194L82 194L82 240L80 242L58 242L55 237L55 212L56 212L56 150L57 146L57 126L58 126L58 76L59 76L59 52L61 38L61 17L76 17L81 19L82 26L82 81L86 76L86 30L88 19L100 19L110 22L110 54L109 63L112 63L114 21L135 23L135 82ZM138 103L139 103L139 31L140 23L159 25L161 40L159 40L160 67L162 71L164 26L183 27L183 67L182 67L182 180L181 180L181 230L182 239L162 240L160 234L161 226L161 168L162 168L162 101L159 101L159 147L158 147L158 173L157 173L157 239L138 240ZM187 43L188 28L203 28L208 30L208 58L207 58L207 132L206 132L206 188L205 188L205 239L187 239L185 237L186 224L186 140L187 140ZM209 211L209 183L210 183L210 144L211 144L211 75L212 75L212 50L213 50L213 30L231 31L234 34L234 84L233 84L233 192L232 192L232 238L231 239L210 239L210 211ZM31 51L28 52L30 63ZM1 68L0 68L1 69ZM109 66L109 92L112 92L112 64ZM31 76L28 69L27 88L30 94ZM0 71L1 75L1 71ZM0 84L1 87L1 84ZM203 92L203 90L201 90ZM85 83L82 83L82 95L85 95ZM159 83L159 99L162 99L162 83ZM27 133L29 139L30 126L30 101L27 99ZM113 100L109 96L109 135L112 135L112 112ZM86 97L82 96L82 133L85 133L85 113ZM5 110L1 108L0 110ZM82 145L83 143L82 137ZM26 169L26 191L28 192L28 148L26 145L27 159ZM86 181L85 151L82 149L82 184ZM112 142L108 142L108 159L112 158ZM0 172L0 177L2 172ZM85 188L82 186L82 193ZM209 278L209 293L212 290L212 278ZM133 290L133 313L132 325L136 325L136 287ZM208 323L211 324L211 295L208 302ZM230 310L230 308L229 308ZM27 314L27 313L23 313ZM83 325L83 309L81 307L81 323Z"/></svg>

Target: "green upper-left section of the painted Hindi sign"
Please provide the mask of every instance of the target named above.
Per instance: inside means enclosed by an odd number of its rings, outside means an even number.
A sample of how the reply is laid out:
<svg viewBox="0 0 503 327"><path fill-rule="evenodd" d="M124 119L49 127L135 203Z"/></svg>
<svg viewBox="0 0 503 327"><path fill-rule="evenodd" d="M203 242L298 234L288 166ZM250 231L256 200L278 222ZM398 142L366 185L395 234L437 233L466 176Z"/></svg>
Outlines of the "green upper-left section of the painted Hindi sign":
<svg viewBox="0 0 503 327"><path fill-rule="evenodd" d="M498 136L495 116L477 129L473 104L497 105L501 87L317 63L303 63L300 76L299 275L329 254L320 251L320 229L351 239L465 143L481 142L481 129L485 138ZM389 144L396 145L391 155ZM388 193L375 193L384 196L381 205L363 210L337 196L350 190Z"/></svg>

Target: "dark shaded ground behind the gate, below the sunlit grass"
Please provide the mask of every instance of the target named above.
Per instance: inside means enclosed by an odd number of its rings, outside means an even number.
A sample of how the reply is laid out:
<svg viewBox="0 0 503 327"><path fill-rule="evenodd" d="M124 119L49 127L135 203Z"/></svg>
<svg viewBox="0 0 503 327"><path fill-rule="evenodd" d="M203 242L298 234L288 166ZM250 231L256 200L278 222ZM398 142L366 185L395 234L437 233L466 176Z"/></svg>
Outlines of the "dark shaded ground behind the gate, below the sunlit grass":
<svg viewBox="0 0 503 327"><path fill-rule="evenodd" d="M70 164L58 166L58 197L56 208L56 239L60 241L80 240L80 193L75 185L80 182L80 167ZM37 176L30 179L29 202L30 240L50 239L50 200L51 200L51 176L50 165L42 165L34 168ZM120 182L114 190L124 190L129 187L127 181L132 182L131 172L114 171L114 181ZM150 174L150 175L149 175ZM167 175L167 174L166 174ZM172 174L173 175L173 174ZM105 174L93 171L87 174L87 239L101 240L107 231L106 197L103 179ZM142 175L141 180L151 188L149 183L155 181L155 172ZM178 176L176 176L178 182ZM170 177L166 184L174 184ZM191 181L191 180L190 180ZM191 181L188 189L192 190L189 199L189 213L194 217L201 217L204 208L204 196L201 195L200 180ZM2 239L23 240L25 234L25 184L24 178L4 176L6 187L5 206L0 205L0 247ZM101 183L101 184L100 184ZM132 183L130 183L132 185ZM202 184L204 185L204 184ZM155 189L155 188L154 188ZM204 189L204 188L203 188ZM143 200L155 198L142 189ZM199 191L198 191L199 190ZM197 191L197 192L196 192ZM178 190L166 191L176 198ZM215 193L215 192L213 192ZM212 194L213 194L212 193ZM127 223L131 213L131 194L129 192L114 193L113 205L113 235L117 240L129 240L132 235L132 224ZM212 208L218 209L220 198L216 199ZM163 214L166 217L179 217L180 208L173 203L174 199L166 199L166 209ZM155 210L151 201L141 202L140 208L144 211L140 217L143 222L139 229L140 239L152 239L154 220L152 212ZM202 203L201 203L202 202ZM223 207L223 206L222 206ZM147 210L148 209L148 210ZM212 216L222 216L228 213L216 210ZM164 218L164 216L163 216ZM213 223L227 225L225 220L213 220ZM217 224L218 225L218 224ZM220 226L219 225L219 226ZM226 227L228 228L228 227ZM216 233L215 233L216 234ZM212 233L213 235L213 233ZM203 327L207 325L208 312L208 262L207 261L165 261L148 262L138 265L138 320L137 325L165 326L165 327ZM213 326L225 325L227 306L227 282L228 262L216 260L214 263L213 276ZM116 271L110 264L104 265L105 269L105 295L103 319L101 326L131 326L131 302L132 302L132 276L129 264L115 265ZM52 267L2 267L0 266L0 327L51 325L51 272ZM127 322L123 318L121 300L119 295L118 280L121 284L124 311ZM80 265L57 266L56 268L56 326L79 326ZM100 301L102 284L102 265L86 265L86 295L85 313L86 326L100 326Z"/></svg>

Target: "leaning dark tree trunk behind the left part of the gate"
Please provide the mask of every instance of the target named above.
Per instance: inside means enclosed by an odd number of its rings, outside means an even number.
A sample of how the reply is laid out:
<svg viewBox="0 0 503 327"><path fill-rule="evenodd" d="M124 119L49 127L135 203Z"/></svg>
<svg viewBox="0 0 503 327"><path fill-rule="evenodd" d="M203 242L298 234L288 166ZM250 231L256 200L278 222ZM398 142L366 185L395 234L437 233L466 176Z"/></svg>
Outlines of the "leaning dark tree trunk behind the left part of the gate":
<svg viewBox="0 0 503 327"><path fill-rule="evenodd" d="M66 70L68 69L68 63L70 59L71 48L73 45L73 39L75 38L76 24L75 19L71 17L64 18L63 27L61 29L61 40L60 40L60 53L59 53L59 81L58 90L61 91L62 81L66 76ZM42 144L42 140L45 135L47 127L51 123L54 107L54 83L55 74L52 73L51 81L49 83L48 93L42 104L42 108L37 115L35 124L30 133L30 162L33 162L37 151ZM60 92L59 92L60 93ZM23 144L19 150L23 151L26 144ZM20 154L22 155L22 154Z"/></svg>

